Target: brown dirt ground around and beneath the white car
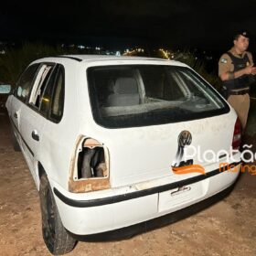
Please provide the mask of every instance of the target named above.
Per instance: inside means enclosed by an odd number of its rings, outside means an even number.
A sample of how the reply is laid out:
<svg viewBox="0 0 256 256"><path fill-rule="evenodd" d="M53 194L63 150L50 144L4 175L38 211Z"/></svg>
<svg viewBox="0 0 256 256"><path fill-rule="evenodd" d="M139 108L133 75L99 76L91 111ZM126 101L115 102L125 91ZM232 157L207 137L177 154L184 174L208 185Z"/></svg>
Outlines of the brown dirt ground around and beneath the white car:
<svg viewBox="0 0 256 256"><path fill-rule="evenodd" d="M68 255L256 255L256 176L242 174L229 197L187 219L129 240L79 242ZM0 255L50 255L36 186L9 123L0 115Z"/></svg>

